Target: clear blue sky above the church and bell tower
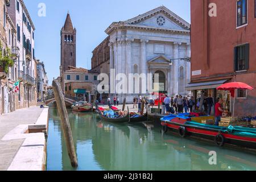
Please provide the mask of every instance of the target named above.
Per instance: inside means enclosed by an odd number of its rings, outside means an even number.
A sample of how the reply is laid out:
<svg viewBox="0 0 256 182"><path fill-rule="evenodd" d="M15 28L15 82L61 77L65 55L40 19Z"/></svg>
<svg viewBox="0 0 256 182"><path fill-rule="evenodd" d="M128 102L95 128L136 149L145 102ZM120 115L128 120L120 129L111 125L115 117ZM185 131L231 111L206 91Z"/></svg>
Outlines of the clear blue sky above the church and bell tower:
<svg viewBox="0 0 256 182"><path fill-rule="evenodd" d="M35 24L35 56L44 61L49 85L59 76L60 30L67 12L77 29L77 67L90 69L93 49L106 38L105 29L164 5L190 23L190 0L24 0ZM46 16L38 16L39 3Z"/></svg>

